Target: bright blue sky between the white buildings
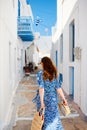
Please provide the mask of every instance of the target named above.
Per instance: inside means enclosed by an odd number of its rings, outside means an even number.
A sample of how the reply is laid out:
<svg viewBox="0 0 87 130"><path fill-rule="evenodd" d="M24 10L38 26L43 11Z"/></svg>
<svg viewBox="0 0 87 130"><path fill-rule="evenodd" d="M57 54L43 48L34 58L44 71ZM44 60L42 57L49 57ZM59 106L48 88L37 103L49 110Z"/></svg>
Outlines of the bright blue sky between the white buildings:
<svg viewBox="0 0 87 130"><path fill-rule="evenodd" d="M34 30L41 35L51 35L51 26L56 24L57 0L27 0L34 16Z"/></svg>

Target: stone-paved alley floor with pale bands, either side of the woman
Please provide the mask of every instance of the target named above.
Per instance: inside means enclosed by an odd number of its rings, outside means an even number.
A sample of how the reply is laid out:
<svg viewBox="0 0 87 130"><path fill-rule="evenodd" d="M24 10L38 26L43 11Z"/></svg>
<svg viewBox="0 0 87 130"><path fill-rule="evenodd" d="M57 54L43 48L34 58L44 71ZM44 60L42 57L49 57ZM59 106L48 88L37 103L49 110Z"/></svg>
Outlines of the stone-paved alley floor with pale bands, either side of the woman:
<svg viewBox="0 0 87 130"><path fill-rule="evenodd" d="M35 74L26 76L21 80L14 98L13 104L15 108L8 130L30 130L31 121L36 111L32 99L36 94L37 87ZM67 98L67 100L69 102L71 114L64 117L60 113L65 130L87 130L87 122L80 118L81 112L74 107L75 105L72 100L69 98Z"/></svg>

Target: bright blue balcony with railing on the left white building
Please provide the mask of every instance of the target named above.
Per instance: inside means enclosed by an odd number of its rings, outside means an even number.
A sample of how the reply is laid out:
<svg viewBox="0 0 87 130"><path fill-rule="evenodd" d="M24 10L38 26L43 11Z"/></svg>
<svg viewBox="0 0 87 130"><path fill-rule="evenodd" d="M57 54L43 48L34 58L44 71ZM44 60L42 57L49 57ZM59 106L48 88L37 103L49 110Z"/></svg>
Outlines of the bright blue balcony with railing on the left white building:
<svg viewBox="0 0 87 130"><path fill-rule="evenodd" d="M18 17L17 34L22 41L33 41L34 31L31 17Z"/></svg>

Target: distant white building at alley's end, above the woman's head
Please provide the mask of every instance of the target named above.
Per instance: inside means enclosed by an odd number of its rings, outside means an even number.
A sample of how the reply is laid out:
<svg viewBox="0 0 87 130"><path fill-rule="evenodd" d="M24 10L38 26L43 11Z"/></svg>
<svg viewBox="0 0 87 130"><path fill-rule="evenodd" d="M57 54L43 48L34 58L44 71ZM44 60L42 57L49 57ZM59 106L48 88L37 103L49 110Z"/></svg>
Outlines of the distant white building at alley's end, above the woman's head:
<svg viewBox="0 0 87 130"><path fill-rule="evenodd" d="M42 57L50 57L51 46L51 36L40 36L40 34L37 33L34 42L28 45L26 49L27 64L29 64L29 62L33 62L36 66L38 66Z"/></svg>

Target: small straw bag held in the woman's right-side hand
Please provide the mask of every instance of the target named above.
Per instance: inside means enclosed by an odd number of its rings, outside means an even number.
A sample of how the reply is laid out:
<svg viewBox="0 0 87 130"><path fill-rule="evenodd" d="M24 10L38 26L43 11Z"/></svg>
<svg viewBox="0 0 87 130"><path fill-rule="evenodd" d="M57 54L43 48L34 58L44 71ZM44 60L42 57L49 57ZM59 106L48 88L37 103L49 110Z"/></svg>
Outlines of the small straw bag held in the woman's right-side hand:
<svg viewBox="0 0 87 130"><path fill-rule="evenodd" d="M65 105L63 102L59 102L58 106L64 116L68 116L70 114L70 108L68 105Z"/></svg>

